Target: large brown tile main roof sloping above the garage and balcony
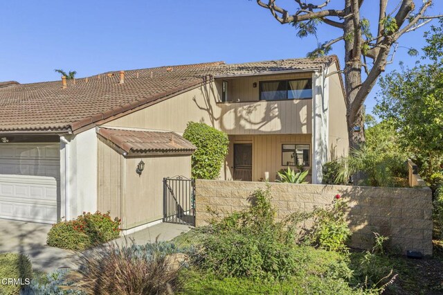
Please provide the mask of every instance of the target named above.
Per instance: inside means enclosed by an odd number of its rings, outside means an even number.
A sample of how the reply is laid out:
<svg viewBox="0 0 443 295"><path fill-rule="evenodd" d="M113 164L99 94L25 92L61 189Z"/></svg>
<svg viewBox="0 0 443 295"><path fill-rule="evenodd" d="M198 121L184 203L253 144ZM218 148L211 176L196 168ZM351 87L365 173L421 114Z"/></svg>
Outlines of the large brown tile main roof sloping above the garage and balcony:
<svg viewBox="0 0 443 295"><path fill-rule="evenodd" d="M93 127L94 123L131 111L175 93L198 87L213 77L254 75L320 69L338 61L335 55L318 59L291 59L244 64L209 62L118 71L88 78L18 84L0 82L0 132L67 132ZM3 85L3 86L2 86Z"/></svg>

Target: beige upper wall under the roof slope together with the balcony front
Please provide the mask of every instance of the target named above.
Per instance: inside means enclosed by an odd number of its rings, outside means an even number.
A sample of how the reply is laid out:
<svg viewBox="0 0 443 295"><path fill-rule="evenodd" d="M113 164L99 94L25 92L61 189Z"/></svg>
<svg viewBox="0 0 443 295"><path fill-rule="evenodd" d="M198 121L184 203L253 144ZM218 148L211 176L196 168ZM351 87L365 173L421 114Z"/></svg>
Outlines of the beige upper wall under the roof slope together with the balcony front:
<svg viewBox="0 0 443 295"><path fill-rule="evenodd" d="M213 82L187 91L117 118L105 126L172 130L182 133L186 129L186 124L194 121L204 122L227 134L309 134L311 132L310 99L217 103L217 85L219 87L219 82ZM257 100L258 94L253 95Z"/></svg>

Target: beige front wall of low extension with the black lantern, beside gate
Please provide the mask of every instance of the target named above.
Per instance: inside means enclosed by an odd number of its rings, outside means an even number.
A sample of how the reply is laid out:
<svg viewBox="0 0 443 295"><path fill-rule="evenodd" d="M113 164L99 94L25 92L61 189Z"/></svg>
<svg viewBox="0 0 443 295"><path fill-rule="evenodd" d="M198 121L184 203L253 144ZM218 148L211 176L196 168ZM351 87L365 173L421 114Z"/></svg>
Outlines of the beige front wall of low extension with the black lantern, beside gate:
<svg viewBox="0 0 443 295"><path fill-rule="evenodd" d="M136 167L143 159L145 170L138 176ZM191 157L143 157L125 159L125 228L163 218L163 177L190 178Z"/></svg>

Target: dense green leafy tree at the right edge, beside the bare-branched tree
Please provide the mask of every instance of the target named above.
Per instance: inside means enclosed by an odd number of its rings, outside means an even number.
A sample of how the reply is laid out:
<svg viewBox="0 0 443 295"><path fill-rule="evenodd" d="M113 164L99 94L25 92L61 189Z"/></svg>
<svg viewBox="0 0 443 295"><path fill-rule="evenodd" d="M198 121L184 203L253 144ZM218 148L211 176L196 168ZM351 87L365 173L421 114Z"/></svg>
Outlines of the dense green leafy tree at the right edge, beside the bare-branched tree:
<svg viewBox="0 0 443 295"><path fill-rule="evenodd" d="M442 21L440 21L442 24ZM429 64L392 71L381 78L375 113L390 120L399 144L418 161L424 177L441 170L443 160L443 31L425 34Z"/></svg>

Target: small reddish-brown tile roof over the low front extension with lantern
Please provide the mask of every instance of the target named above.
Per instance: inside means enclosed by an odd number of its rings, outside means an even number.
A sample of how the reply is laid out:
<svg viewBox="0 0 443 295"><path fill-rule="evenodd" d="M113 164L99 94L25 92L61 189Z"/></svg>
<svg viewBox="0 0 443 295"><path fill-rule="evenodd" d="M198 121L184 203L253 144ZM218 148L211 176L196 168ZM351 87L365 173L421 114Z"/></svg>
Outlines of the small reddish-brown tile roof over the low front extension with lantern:
<svg viewBox="0 0 443 295"><path fill-rule="evenodd" d="M197 150L190 141L174 132L100 127L97 133L114 143L129 157L142 154L192 154Z"/></svg>

